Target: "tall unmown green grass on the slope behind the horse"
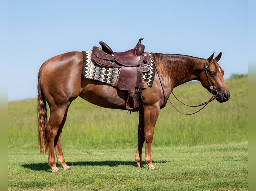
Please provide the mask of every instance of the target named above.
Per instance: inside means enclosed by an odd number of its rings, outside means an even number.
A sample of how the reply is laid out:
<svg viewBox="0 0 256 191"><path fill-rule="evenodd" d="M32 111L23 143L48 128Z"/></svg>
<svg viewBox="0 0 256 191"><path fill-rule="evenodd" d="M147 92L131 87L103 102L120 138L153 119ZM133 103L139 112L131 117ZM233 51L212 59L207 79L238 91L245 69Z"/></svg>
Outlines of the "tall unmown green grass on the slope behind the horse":
<svg viewBox="0 0 256 191"><path fill-rule="evenodd" d="M230 100L214 100L194 115L178 113L170 103L161 109L154 132L153 147L195 146L247 141L248 78L230 79L226 84ZM200 83L188 83L174 89L185 103L199 104L210 98ZM183 106L171 95L170 100L182 112L197 108ZM37 149L36 99L9 102L9 149ZM127 148L136 147L139 115L124 110L93 105L82 98L69 108L62 132L62 147Z"/></svg>

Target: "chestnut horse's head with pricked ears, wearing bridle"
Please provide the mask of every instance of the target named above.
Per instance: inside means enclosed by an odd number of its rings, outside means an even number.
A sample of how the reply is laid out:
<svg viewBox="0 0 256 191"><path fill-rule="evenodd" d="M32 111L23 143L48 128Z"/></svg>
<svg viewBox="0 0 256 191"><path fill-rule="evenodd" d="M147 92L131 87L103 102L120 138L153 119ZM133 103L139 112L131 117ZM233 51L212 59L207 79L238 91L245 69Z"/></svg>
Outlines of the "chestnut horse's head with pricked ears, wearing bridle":
<svg viewBox="0 0 256 191"><path fill-rule="evenodd" d="M214 53L205 60L200 81L202 86L213 95L217 95L216 100L222 103L229 100L230 94L223 79L224 71L218 64L221 59L221 52L215 59L213 59L213 55Z"/></svg>

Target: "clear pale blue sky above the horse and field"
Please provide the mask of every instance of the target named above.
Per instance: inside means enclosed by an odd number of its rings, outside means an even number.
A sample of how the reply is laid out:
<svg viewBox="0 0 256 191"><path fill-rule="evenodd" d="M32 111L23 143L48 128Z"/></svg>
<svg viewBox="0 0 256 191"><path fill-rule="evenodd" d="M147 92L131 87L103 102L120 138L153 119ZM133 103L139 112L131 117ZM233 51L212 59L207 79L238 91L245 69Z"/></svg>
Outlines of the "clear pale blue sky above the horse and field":
<svg viewBox="0 0 256 191"><path fill-rule="evenodd" d="M18 1L7 5L8 100L37 96L37 74L47 59L91 50L104 41L115 52L133 48L208 58L225 71L248 73L248 2L244 0ZM7 75L7 74L3 74ZM3 78L3 77L1 77Z"/></svg>

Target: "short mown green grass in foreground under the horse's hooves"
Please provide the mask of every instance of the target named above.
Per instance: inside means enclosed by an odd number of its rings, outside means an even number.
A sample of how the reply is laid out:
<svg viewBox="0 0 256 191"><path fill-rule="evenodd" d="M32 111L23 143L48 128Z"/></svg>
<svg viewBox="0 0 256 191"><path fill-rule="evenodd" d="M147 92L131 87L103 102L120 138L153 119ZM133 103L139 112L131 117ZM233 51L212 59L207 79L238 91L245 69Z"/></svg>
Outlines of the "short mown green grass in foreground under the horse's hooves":
<svg viewBox="0 0 256 191"><path fill-rule="evenodd" d="M66 151L72 171L51 174L36 151L9 153L9 190L246 190L247 144L162 147L157 170L139 169L134 149ZM241 188L241 189L240 189Z"/></svg>

